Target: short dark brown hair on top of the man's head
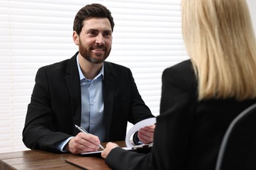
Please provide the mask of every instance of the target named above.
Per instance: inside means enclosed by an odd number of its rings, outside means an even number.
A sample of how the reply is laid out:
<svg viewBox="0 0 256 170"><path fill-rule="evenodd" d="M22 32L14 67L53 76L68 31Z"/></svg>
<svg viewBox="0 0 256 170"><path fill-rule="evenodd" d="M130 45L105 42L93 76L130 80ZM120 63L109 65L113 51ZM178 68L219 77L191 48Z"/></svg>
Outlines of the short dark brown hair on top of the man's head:
<svg viewBox="0 0 256 170"><path fill-rule="evenodd" d="M74 19L73 31L80 35L83 28L83 21L91 18L108 18L113 32L115 24L110 10L108 10L104 5L98 3L85 5L85 7L81 8L77 12Z"/></svg>

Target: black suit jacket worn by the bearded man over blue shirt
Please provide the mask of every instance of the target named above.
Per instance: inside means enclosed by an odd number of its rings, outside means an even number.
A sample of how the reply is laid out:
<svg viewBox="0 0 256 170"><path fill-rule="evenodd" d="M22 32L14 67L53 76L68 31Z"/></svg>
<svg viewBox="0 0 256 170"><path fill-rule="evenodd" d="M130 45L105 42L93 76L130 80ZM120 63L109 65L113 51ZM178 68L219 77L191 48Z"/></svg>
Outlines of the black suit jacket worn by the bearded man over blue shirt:
<svg viewBox="0 0 256 170"><path fill-rule="evenodd" d="M77 135L81 123L81 87L76 56L41 67L22 132L28 148L58 152L54 143ZM125 140L127 121L154 117L142 100L131 70L104 61L104 123L106 141Z"/></svg>

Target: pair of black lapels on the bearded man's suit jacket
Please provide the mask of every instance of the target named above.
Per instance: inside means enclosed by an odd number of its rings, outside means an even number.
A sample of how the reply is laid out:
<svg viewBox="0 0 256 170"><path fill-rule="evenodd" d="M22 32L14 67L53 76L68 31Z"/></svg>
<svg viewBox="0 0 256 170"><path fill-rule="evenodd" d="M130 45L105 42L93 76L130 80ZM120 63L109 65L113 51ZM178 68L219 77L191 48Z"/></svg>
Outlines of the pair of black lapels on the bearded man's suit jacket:
<svg viewBox="0 0 256 170"><path fill-rule="evenodd" d="M72 114L74 124L81 124L81 86L79 73L77 69L76 56L78 52L70 59L67 66L66 82L70 92L72 105ZM103 101L104 101L104 123L106 127L106 141L109 139L110 127L112 124L112 112L114 105L114 73L110 63L104 61L104 80L103 80ZM74 129L75 131L75 129Z"/></svg>

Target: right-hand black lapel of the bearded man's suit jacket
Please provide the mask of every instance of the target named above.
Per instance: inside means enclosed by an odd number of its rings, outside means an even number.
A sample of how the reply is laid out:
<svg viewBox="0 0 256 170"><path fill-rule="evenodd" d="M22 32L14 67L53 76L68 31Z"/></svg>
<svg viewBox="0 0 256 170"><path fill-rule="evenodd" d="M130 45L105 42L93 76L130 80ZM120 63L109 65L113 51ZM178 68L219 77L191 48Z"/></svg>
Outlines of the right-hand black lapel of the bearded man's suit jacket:
<svg viewBox="0 0 256 170"><path fill-rule="evenodd" d="M112 124L112 112L114 105L114 74L110 63L104 61L103 101L104 101L104 123L106 127L106 141L109 139Z"/></svg>

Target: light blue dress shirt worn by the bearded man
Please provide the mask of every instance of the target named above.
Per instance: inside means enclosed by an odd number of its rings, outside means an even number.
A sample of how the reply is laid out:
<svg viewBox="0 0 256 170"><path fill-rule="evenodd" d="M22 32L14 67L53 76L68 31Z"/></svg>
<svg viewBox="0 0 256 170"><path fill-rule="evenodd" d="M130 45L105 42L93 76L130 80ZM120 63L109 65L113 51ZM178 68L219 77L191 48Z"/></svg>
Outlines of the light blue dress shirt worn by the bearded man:
<svg viewBox="0 0 256 170"><path fill-rule="evenodd" d="M105 126L103 120L104 102L102 95L102 80L104 78L104 65L93 80L85 78L83 75L77 55L77 68L81 83L81 127L89 133L98 136L100 141L105 139ZM66 152L64 146L72 137L55 144L55 148Z"/></svg>

